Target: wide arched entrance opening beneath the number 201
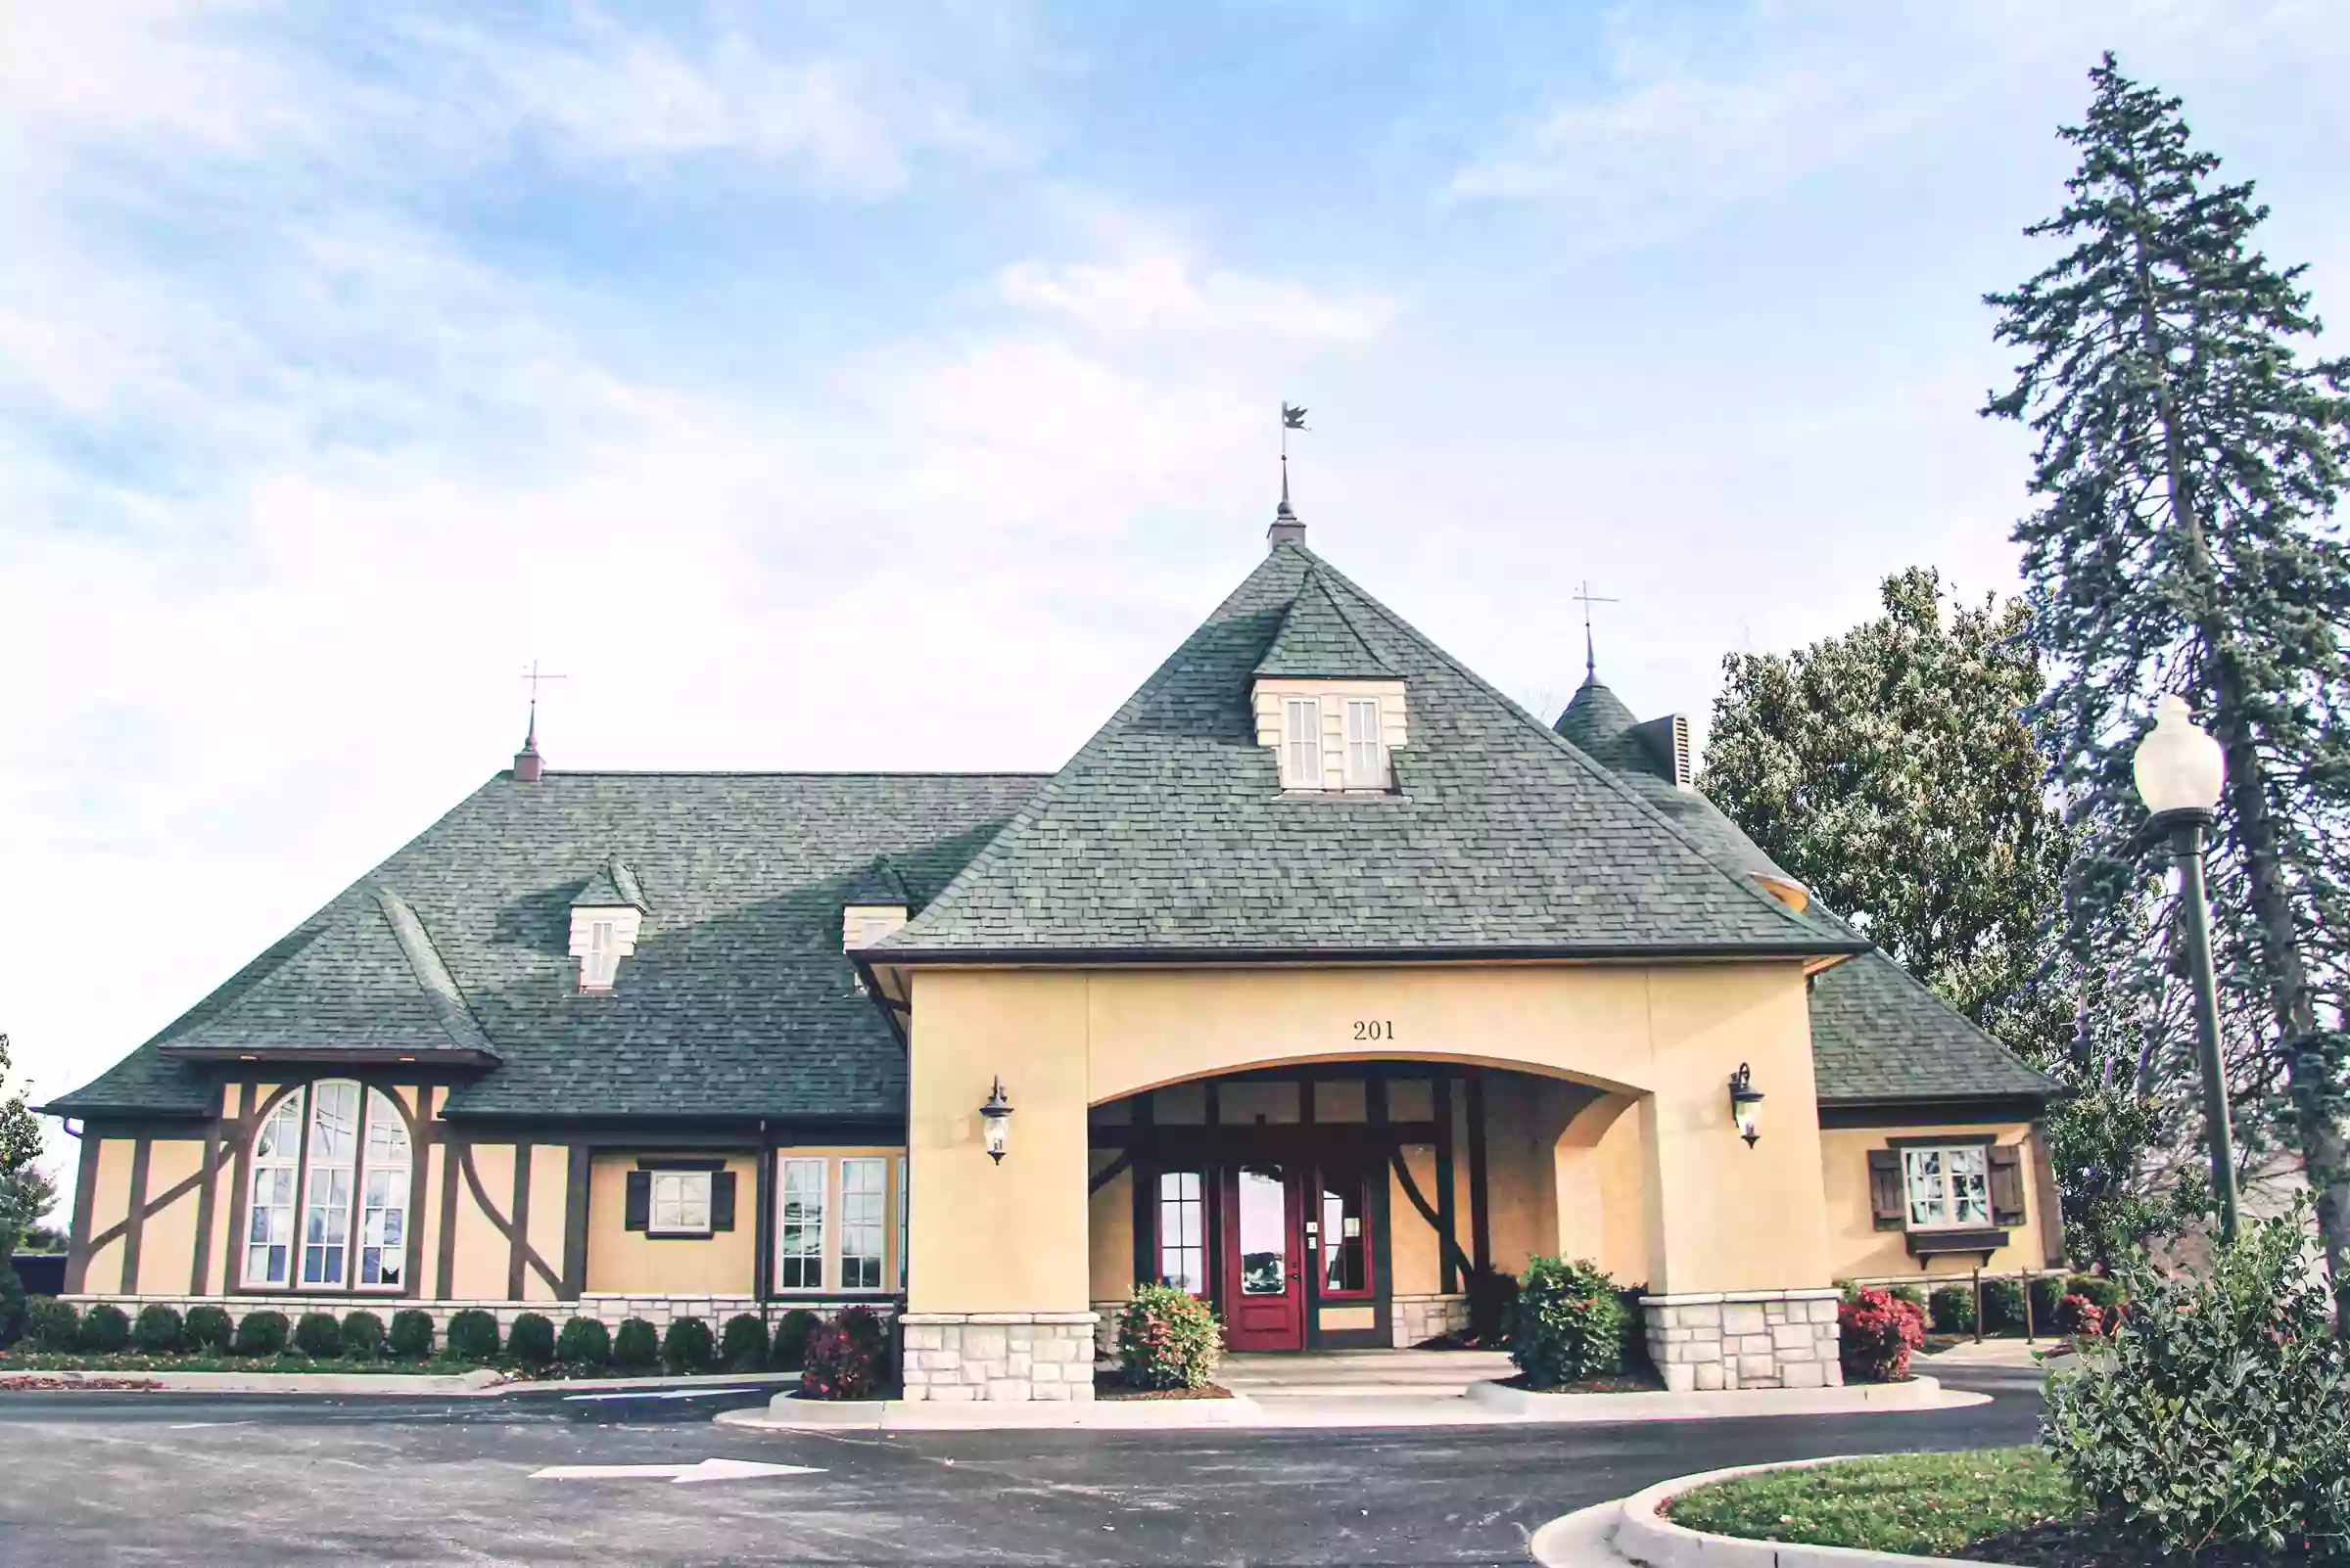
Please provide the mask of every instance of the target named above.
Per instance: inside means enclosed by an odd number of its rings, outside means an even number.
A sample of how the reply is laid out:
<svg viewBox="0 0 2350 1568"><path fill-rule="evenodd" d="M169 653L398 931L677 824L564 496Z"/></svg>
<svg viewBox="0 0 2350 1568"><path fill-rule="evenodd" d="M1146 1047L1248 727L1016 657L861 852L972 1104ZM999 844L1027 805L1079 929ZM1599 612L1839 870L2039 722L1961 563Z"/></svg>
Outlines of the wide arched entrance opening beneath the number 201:
<svg viewBox="0 0 2350 1568"><path fill-rule="evenodd" d="M1269 1063L1088 1115L1090 1296L1210 1300L1234 1350L1464 1343L1530 1256L1645 1268L1638 1096L1462 1059ZM1622 1129L1622 1131L1619 1131ZM1631 1204L1629 1228L1619 1218Z"/></svg>

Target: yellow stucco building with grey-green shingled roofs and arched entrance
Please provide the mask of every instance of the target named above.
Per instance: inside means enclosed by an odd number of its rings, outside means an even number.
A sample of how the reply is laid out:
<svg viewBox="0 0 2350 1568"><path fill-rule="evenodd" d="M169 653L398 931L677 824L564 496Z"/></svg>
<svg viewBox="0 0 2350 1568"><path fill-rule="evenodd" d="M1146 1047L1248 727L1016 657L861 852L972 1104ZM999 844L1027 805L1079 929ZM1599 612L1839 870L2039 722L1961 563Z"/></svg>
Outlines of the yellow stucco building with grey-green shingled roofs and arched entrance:
<svg viewBox="0 0 2350 1568"><path fill-rule="evenodd" d="M1645 1286L1676 1387L1838 1380L1835 1279L2061 1261L2049 1082L1692 786L1304 547L1053 775L597 775L536 739L49 1113L68 1291L609 1322L865 1300L909 1399ZM559 1303L559 1305L557 1305Z"/></svg>

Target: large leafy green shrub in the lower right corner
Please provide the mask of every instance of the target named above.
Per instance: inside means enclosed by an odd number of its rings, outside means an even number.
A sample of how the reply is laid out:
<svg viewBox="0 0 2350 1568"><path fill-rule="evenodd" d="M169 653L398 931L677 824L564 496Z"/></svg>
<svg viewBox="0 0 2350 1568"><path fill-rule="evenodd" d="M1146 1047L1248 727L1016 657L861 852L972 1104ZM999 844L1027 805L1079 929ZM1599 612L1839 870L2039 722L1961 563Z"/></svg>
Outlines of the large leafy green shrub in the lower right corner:
<svg viewBox="0 0 2350 1568"><path fill-rule="evenodd" d="M2202 1272L2124 1265L2120 1329L2049 1383L2040 1441L2115 1535L2178 1561L2350 1540L2350 1350L2308 1225L2303 1197Z"/></svg>

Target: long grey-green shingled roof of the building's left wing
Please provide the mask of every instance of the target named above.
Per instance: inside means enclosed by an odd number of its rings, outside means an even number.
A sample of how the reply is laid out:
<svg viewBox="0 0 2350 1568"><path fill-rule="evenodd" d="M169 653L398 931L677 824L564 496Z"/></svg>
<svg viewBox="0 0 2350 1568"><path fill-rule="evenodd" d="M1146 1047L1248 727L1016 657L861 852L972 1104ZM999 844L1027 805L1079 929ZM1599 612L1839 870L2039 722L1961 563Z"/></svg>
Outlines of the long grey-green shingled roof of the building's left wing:
<svg viewBox="0 0 2350 1568"><path fill-rule="evenodd" d="M1036 775L498 775L59 1115L200 1113L172 1047L451 1049L449 995L395 930L411 911L498 1068L451 1115L898 1115L905 1054L841 953L844 890L886 854L942 887ZM569 955L580 866L653 894L611 993ZM625 890L623 890L625 892ZM385 901L390 894L390 904Z"/></svg>

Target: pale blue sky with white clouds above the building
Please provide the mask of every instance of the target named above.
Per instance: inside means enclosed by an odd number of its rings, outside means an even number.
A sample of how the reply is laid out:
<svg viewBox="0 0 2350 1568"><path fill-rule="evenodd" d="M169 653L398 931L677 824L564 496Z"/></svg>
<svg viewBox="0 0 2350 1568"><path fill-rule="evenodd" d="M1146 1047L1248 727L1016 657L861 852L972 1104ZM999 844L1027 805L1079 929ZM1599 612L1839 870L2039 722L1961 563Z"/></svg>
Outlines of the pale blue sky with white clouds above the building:
<svg viewBox="0 0 2350 1568"><path fill-rule="evenodd" d="M1556 709L2009 584L2096 52L2350 310L2350 16L0 0L0 1030L61 1091L472 789L1050 768L1311 540ZM2338 338L2336 338L2338 347ZM56 1143L63 1150L63 1141Z"/></svg>

